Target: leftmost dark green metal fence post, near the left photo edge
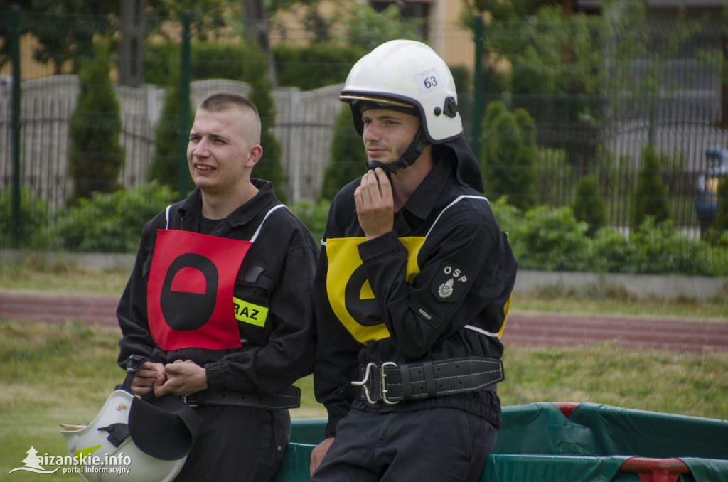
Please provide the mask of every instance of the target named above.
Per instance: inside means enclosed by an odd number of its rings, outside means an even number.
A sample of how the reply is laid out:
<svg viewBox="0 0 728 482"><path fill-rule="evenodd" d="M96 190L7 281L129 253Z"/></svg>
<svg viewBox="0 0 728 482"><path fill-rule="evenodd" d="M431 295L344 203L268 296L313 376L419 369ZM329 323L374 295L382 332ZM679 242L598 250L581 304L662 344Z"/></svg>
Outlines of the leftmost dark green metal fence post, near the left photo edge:
<svg viewBox="0 0 728 482"><path fill-rule="evenodd" d="M10 58L12 59L12 248L20 248L20 6L10 12Z"/></svg>

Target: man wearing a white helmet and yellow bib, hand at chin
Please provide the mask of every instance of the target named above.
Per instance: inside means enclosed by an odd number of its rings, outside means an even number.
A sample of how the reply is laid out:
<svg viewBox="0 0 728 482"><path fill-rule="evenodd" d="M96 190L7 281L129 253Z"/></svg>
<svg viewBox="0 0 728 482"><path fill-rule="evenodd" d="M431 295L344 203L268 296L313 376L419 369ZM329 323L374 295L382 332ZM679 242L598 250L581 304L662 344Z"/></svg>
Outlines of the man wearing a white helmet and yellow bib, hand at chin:
<svg viewBox="0 0 728 482"><path fill-rule="evenodd" d="M340 99L369 170L333 199L314 279L328 424L312 481L478 481L501 423L517 263L480 194L451 72L395 40L355 64Z"/></svg>

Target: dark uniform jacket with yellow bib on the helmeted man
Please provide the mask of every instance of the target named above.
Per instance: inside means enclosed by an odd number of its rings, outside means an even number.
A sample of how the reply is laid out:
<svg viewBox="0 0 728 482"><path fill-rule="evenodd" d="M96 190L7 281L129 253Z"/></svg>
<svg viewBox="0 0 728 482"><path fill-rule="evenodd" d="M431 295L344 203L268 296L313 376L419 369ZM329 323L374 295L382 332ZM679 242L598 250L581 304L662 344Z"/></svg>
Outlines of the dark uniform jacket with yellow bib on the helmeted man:
<svg viewBox="0 0 728 482"><path fill-rule="evenodd" d="M352 407L459 408L500 426L494 387L394 406L369 406L350 387L369 362L502 356L517 263L487 199L459 180L453 162L435 160L384 236L365 241L354 201L360 180L333 199L314 281L314 388L328 436Z"/></svg>

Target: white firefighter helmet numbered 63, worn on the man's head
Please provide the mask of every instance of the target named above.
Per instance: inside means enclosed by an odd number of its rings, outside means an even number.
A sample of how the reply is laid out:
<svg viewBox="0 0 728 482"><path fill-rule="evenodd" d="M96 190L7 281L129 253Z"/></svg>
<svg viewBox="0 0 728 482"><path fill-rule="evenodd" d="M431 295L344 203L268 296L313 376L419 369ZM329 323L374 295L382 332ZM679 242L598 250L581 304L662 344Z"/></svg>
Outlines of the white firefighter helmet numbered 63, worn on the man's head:
<svg viewBox="0 0 728 482"><path fill-rule="evenodd" d="M462 135L452 73L422 42L400 39L376 47L349 71L339 99L350 104L360 135L360 109L371 108L370 103L403 111L414 106L430 143L444 143Z"/></svg>

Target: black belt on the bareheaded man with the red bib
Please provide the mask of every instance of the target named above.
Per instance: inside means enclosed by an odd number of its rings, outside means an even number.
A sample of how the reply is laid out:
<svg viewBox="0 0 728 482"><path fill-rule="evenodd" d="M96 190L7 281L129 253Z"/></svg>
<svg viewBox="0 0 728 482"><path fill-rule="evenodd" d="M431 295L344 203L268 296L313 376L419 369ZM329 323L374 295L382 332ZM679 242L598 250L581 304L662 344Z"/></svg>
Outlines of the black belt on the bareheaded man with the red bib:
<svg viewBox="0 0 728 482"><path fill-rule="evenodd" d="M282 408L298 408L301 406L301 389L287 387L279 393L253 395L243 392L197 392L183 395L182 401L192 407L206 405L263 408L265 410L281 410Z"/></svg>

